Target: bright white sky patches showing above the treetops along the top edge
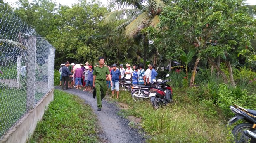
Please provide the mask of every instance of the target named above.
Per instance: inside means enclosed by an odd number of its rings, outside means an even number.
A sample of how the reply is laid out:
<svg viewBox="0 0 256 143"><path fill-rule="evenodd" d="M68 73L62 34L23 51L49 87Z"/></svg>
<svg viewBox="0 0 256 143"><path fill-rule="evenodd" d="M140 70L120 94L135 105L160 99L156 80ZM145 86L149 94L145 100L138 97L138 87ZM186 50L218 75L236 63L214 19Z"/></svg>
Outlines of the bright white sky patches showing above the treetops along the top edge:
<svg viewBox="0 0 256 143"><path fill-rule="evenodd" d="M8 2L10 5L15 6L15 2L17 0L3 0L5 2ZM32 2L32 0L28 0L29 2ZM68 5L71 7L73 3L77 3L77 0L52 0L55 1L57 4L61 3L62 5ZM102 4L107 5L110 0L99 0ZM246 1L249 5L256 5L256 0L247 0Z"/></svg>

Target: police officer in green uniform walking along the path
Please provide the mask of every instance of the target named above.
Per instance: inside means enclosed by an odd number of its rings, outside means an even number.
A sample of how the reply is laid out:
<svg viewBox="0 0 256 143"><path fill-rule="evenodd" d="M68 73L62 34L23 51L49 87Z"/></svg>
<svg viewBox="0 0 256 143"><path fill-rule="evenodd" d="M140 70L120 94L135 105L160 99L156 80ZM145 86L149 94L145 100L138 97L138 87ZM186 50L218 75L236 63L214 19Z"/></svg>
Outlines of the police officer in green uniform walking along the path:
<svg viewBox="0 0 256 143"><path fill-rule="evenodd" d="M95 66L93 71L93 88L96 87L98 111L101 111L101 101L105 97L107 91L106 75L110 80L111 86L113 85L109 69L104 65L104 62L104 57L99 57L99 65Z"/></svg>

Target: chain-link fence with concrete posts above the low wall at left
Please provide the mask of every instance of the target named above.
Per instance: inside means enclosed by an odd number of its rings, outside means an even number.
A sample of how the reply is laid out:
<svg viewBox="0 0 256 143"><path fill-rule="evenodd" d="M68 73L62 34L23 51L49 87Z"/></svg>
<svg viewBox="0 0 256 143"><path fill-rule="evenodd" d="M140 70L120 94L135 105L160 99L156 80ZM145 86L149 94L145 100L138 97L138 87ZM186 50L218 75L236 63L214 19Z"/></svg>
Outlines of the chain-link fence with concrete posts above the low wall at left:
<svg viewBox="0 0 256 143"><path fill-rule="evenodd" d="M0 3L0 140L53 89L55 48Z"/></svg>

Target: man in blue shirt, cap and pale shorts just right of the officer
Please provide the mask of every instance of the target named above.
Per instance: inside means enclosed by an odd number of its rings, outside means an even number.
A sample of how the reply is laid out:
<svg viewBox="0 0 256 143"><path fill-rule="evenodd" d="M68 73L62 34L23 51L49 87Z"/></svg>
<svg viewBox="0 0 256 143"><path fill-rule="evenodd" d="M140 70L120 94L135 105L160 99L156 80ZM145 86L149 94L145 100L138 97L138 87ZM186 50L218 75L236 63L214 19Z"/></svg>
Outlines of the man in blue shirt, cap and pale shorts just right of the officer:
<svg viewBox="0 0 256 143"><path fill-rule="evenodd" d="M119 79L121 78L121 72L116 69L116 64L113 64L113 70L111 70L110 75L113 82L113 86L111 86L112 97L114 97L114 90L116 89L116 99L118 99L119 95Z"/></svg>

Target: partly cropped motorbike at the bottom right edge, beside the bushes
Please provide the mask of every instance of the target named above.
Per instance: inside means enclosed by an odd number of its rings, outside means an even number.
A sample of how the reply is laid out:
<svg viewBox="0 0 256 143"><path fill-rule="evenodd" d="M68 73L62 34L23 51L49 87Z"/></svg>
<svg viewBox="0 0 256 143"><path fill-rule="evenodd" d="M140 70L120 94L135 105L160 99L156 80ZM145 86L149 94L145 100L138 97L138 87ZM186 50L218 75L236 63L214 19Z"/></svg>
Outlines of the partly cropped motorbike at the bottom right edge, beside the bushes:
<svg viewBox="0 0 256 143"><path fill-rule="evenodd" d="M256 143L256 110L244 109L236 104L230 105L230 110L235 113L231 118L229 125L235 123L239 119L244 119L247 123L241 123L234 127L232 134L235 143Z"/></svg>

